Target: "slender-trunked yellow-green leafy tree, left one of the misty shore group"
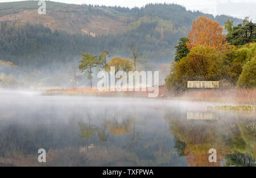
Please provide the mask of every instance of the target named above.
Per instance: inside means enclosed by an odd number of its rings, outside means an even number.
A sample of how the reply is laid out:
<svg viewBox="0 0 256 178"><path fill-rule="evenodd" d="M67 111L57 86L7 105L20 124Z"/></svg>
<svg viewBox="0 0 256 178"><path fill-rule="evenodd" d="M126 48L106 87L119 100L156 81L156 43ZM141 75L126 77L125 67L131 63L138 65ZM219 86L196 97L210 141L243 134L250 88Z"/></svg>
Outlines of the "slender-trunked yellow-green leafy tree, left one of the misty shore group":
<svg viewBox="0 0 256 178"><path fill-rule="evenodd" d="M87 78L90 80L90 88L92 89L92 69L98 66L97 56L94 56L88 52L79 54L82 56L82 60L79 61L79 69L81 72L88 72Z"/></svg>

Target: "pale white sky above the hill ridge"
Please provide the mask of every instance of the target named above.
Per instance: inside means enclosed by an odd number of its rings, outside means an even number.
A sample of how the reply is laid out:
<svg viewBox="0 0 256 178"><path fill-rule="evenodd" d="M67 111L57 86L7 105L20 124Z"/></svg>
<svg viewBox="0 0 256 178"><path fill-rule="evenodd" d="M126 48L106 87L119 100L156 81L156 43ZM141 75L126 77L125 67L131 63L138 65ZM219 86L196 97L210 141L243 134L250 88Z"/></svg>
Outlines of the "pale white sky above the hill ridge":
<svg viewBox="0 0 256 178"><path fill-rule="evenodd" d="M12 2L13 0L0 0L0 2ZM15 1L15 0L14 0ZM16 0L20 1L20 0ZM23 0L24 1L24 0ZM256 22L256 0L51 0L63 3L74 3L81 5L106 5L123 7L142 7L147 3L176 3L183 5L189 10L200 10L203 13L213 15L226 14L245 18L250 16L253 22ZM47 3L46 3L47 6Z"/></svg>

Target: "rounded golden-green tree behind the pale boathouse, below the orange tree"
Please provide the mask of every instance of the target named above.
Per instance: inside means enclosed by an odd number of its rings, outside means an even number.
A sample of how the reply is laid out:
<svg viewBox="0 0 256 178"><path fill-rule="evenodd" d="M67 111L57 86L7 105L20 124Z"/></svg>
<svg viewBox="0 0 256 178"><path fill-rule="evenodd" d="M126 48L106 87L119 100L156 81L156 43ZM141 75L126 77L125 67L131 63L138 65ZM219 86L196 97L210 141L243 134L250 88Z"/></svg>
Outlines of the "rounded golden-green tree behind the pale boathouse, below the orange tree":
<svg viewBox="0 0 256 178"><path fill-rule="evenodd" d="M217 81L227 73L222 54L213 47L200 45L192 48L187 57L172 65L166 78L166 86L169 90L184 90L188 80Z"/></svg>

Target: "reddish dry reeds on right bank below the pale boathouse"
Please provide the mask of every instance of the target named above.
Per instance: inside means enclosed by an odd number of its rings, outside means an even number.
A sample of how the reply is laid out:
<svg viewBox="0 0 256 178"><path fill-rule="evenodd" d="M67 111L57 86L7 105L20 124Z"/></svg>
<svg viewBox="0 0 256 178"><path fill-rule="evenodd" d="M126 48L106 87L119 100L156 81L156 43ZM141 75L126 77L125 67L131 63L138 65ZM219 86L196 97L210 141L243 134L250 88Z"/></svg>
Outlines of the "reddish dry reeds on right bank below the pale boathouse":
<svg viewBox="0 0 256 178"><path fill-rule="evenodd" d="M179 98L189 101L255 105L256 89L188 90Z"/></svg>

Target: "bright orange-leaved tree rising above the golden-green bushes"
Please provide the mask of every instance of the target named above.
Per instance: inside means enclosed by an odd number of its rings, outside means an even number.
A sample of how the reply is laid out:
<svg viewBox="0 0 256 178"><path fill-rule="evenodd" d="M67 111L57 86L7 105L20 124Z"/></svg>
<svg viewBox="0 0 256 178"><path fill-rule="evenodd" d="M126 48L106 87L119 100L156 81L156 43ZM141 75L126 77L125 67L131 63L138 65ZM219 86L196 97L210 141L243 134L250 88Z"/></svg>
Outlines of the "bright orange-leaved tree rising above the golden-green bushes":
<svg viewBox="0 0 256 178"><path fill-rule="evenodd" d="M198 45L208 45L219 51L227 44L222 31L223 28L216 20L200 16L196 21L193 20L191 31L188 32L187 47L190 50Z"/></svg>

